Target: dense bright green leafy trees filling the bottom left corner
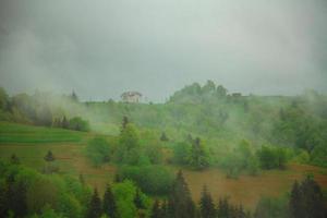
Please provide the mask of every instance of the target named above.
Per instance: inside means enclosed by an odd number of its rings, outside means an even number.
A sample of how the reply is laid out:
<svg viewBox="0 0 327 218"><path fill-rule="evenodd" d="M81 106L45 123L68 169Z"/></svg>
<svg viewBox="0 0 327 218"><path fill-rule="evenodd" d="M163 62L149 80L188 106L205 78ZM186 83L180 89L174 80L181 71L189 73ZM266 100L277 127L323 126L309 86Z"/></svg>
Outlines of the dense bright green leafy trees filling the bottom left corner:
<svg viewBox="0 0 327 218"><path fill-rule="evenodd" d="M89 196L89 189L71 177L0 160L0 217L83 217Z"/></svg>

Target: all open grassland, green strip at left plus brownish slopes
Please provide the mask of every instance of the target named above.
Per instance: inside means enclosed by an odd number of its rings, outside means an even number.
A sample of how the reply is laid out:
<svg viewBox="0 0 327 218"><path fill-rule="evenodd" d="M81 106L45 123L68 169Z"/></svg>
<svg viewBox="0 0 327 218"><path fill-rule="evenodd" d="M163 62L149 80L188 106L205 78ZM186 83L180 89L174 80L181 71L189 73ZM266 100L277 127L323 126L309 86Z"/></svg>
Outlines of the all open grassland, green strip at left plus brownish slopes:
<svg viewBox="0 0 327 218"><path fill-rule="evenodd" d="M88 184L102 192L105 185L112 182L116 167L92 166L84 156L84 147L92 136L92 133L0 122L0 158L8 159L16 154L24 165L40 170L46 165L44 156L50 149L62 173L74 177L82 173ZM173 171L178 169L171 167ZM314 174L317 182L327 187L326 169L312 166L289 165L286 170L263 171L257 177L241 175L238 180L227 179L219 169L183 169L183 172L195 201L198 201L206 184L216 201L229 196L233 203L242 203L249 209L253 209L263 195L279 196L286 193L294 180L301 180L307 173Z"/></svg>

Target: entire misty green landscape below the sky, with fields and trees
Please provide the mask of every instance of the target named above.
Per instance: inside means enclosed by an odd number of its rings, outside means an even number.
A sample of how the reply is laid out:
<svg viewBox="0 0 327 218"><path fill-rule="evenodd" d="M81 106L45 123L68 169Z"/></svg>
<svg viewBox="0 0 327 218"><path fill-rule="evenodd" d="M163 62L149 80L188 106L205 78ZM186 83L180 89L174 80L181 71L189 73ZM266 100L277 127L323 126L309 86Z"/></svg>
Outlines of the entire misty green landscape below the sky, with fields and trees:
<svg viewBox="0 0 327 218"><path fill-rule="evenodd" d="M324 218L327 96L0 89L0 217Z"/></svg>

